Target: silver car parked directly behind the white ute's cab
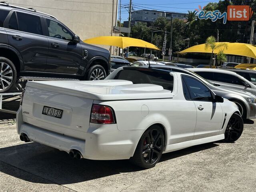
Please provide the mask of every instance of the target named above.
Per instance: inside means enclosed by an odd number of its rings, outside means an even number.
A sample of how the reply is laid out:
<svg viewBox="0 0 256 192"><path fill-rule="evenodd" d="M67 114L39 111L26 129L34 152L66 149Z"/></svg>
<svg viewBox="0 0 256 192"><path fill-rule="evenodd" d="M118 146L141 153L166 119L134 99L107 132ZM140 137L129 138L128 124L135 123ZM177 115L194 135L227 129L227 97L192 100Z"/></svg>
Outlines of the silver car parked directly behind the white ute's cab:
<svg viewBox="0 0 256 192"><path fill-rule="evenodd" d="M148 66L144 66L144 67L148 67ZM240 111L240 115L242 116L243 119L256 118L256 97L249 92L234 90L234 89L227 88L225 86L221 86L216 83L211 83L210 81L194 73L192 71L194 70L194 68L189 68L187 70L187 69L182 69L174 66L168 66L168 65L160 66L160 65L154 65L154 64L151 65L150 67L169 70L173 72L183 72L186 74L190 74L200 79L201 81L203 81L215 94L236 103Z"/></svg>

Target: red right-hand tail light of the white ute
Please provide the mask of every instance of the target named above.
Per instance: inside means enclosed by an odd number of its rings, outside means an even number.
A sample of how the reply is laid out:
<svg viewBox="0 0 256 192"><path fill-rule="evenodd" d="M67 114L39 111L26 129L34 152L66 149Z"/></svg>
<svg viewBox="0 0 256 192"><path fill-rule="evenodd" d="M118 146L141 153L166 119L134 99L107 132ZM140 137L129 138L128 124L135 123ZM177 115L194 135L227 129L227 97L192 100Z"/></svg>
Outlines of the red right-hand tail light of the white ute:
<svg viewBox="0 0 256 192"><path fill-rule="evenodd" d="M109 106L94 104L92 106L90 122L98 124L113 124L115 123L114 111Z"/></svg>

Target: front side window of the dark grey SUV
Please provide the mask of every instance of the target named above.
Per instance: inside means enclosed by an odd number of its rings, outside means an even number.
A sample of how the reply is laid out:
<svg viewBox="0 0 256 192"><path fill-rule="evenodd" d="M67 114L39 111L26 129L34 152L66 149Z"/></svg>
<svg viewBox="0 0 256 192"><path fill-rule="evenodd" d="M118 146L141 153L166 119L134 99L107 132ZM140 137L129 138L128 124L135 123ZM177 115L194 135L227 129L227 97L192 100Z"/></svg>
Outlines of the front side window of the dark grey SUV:
<svg viewBox="0 0 256 192"><path fill-rule="evenodd" d="M46 19L49 36L57 39L72 40L72 34L61 24L50 19Z"/></svg>

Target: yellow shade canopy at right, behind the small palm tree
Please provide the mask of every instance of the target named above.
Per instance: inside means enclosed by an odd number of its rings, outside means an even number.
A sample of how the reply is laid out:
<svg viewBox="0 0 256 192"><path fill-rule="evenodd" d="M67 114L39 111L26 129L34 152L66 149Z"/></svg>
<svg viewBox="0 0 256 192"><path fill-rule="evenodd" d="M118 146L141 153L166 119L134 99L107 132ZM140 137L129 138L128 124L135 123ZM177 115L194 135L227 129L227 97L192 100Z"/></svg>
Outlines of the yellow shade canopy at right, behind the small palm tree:
<svg viewBox="0 0 256 192"><path fill-rule="evenodd" d="M240 55L246 56L250 58L256 58L256 46L246 43L230 43L230 42L216 42L218 43L226 43L228 48L224 50L224 54L228 55ZM196 52L196 53L212 53L212 50L205 50L205 44L195 45L190 48L187 48L179 53L188 53L188 52ZM220 49L214 50L213 53L217 54Z"/></svg>

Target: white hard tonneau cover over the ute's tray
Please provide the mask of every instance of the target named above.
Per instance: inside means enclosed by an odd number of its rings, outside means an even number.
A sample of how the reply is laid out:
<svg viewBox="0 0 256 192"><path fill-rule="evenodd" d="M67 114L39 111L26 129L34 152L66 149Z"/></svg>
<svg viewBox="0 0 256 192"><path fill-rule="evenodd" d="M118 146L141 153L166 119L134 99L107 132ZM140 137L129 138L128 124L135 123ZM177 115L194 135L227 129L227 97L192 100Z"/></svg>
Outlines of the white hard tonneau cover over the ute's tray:
<svg viewBox="0 0 256 192"><path fill-rule="evenodd" d="M133 84L126 80L34 81L27 86L95 100L171 98L172 93L154 84Z"/></svg>

